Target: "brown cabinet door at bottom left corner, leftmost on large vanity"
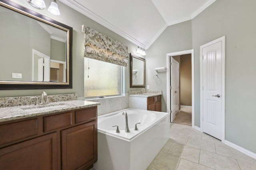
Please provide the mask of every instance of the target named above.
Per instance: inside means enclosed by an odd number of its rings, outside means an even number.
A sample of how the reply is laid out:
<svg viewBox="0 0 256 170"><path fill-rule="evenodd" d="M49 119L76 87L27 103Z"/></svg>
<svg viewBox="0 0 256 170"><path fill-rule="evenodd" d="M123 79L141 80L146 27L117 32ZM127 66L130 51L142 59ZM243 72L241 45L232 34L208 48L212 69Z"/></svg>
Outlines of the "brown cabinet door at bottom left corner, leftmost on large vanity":
<svg viewBox="0 0 256 170"><path fill-rule="evenodd" d="M56 170L57 134L51 133L0 149L1 170Z"/></svg>

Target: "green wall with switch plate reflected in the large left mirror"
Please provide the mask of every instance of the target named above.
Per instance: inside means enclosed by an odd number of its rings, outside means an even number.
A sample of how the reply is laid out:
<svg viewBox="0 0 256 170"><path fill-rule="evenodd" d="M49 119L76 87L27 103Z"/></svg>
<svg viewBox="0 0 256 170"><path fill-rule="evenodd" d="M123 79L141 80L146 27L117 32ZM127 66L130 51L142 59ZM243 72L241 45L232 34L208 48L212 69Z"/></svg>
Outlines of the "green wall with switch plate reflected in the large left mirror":
<svg viewBox="0 0 256 170"><path fill-rule="evenodd" d="M0 80L32 81L32 49L50 55L50 34L36 21L7 9L1 11L0 23ZM12 78L12 73L22 78Z"/></svg>

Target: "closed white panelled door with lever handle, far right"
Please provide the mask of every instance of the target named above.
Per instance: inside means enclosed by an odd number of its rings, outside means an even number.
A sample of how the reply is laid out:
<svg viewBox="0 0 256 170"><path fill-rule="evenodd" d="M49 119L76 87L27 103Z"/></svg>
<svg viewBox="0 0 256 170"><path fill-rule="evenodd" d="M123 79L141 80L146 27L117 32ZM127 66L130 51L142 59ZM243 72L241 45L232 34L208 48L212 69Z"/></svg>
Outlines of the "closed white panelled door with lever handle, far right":
<svg viewBox="0 0 256 170"><path fill-rule="evenodd" d="M203 132L222 140L222 41L202 48Z"/></svg>

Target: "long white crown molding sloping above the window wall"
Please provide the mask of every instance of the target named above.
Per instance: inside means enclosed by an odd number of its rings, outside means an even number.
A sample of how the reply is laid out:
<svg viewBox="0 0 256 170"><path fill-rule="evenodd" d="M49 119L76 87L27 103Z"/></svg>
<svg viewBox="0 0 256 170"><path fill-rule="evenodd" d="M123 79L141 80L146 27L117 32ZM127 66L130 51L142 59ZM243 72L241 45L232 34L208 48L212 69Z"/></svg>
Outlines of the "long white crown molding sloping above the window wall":
<svg viewBox="0 0 256 170"><path fill-rule="evenodd" d="M85 8L84 6L82 6L81 4L76 2L75 0L59 0L59 1L63 2L64 4L66 4L68 6L70 6L74 10L80 12L81 14L84 14L88 18L100 23L101 25L110 29L111 31L114 31L115 33L117 33L121 37L124 37L125 39L134 43L135 45L138 45L138 46L142 47L143 49L145 49L146 45L137 41L136 39L134 39L130 35L126 34L124 31L120 30L118 27L114 26L113 24L109 23L108 21L104 20L103 18L101 18L100 16L95 14L94 12L88 10L87 8Z"/></svg>

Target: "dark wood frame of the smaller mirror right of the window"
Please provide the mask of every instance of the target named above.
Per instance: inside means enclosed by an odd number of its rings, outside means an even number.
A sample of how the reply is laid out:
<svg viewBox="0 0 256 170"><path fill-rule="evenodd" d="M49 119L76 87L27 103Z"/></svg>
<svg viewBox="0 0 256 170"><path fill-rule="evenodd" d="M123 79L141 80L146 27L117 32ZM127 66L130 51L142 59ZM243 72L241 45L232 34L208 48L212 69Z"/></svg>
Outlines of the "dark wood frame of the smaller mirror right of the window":
<svg viewBox="0 0 256 170"><path fill-rule="evenodd" d="M141 61L144 62L144 80L143 80L143 84L132 84L132 79L133 79L133 75L132 75L132 70L133 70L133 57L136 58L136 59L139 59ZM145 88L145 84L146 84L146 60L143 59L142 57L139 57L137 55L134 55L132 53L130 53L130 88Z"/></svg>

